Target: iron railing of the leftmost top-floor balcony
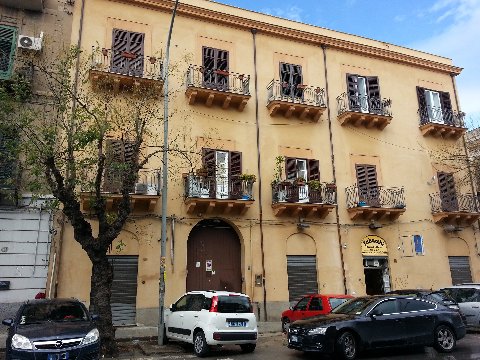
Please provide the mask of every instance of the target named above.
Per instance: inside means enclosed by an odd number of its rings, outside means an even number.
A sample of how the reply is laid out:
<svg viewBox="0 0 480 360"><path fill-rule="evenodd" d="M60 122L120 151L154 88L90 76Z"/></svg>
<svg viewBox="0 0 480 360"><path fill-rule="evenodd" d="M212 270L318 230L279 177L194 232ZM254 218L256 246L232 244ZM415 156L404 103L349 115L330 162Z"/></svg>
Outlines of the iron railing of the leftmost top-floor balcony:
<svg viewBox="0 0 480 360"><path fill-rule="evenodd" d="M128 75L143 79L162 79L162 59L140 56L125 51L92 47L91 69L112 74Z"/></svg>

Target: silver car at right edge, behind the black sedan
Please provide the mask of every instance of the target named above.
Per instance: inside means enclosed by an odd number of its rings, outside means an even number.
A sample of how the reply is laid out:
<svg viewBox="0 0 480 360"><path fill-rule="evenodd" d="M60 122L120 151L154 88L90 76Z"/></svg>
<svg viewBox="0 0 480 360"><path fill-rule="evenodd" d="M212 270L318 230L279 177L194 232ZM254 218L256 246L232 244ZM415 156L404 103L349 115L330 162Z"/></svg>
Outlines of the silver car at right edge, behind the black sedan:
<svg viewBox="0 0 480 360"><path fill-rule="evenodd" d="M480 330L480 284L462 284L442 289L452 297L465 315L467 328Z"/></svg>

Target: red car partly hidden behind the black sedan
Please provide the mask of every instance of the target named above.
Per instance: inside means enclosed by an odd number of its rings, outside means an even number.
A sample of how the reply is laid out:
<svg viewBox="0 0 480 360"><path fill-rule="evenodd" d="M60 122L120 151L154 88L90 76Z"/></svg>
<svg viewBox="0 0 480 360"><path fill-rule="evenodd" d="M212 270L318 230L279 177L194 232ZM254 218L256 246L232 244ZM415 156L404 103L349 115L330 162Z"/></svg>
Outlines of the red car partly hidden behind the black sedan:
<svg viewBox="0 0 480 360"><path fill-rule="evenodd" d="M282 313L282 330L286 332L290 323L296 320L328 314L338 305L352 298L351 295L304 295L294 307Z"/></svg>

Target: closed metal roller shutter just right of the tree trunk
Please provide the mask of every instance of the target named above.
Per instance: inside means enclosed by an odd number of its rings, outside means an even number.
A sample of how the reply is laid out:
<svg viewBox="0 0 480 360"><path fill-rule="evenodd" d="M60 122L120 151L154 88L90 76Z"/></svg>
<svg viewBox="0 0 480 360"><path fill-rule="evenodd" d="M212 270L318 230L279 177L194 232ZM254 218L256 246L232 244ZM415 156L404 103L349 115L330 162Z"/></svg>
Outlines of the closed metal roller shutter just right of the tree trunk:
<svg viewBox="0 0 480 360"><path fill-rule="evenodd" d="M138 256L109 256L108 260L113 265L113 325L135 325Z"/></svg>

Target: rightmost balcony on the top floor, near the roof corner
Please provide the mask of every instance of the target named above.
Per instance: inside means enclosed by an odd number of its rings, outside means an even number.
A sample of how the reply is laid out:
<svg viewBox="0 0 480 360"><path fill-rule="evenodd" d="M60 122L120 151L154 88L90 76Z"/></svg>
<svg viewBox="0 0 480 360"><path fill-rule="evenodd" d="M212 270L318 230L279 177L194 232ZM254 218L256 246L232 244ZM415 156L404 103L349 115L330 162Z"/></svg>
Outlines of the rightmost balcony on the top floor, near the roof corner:
<svg viewBox="0 0 480 360"><path fill-rule="evenodd" d="M465 113L442 110L440 107L424 106L418 109L420 130L423 136L443 137L458 140L467 131Z"/></svg>

